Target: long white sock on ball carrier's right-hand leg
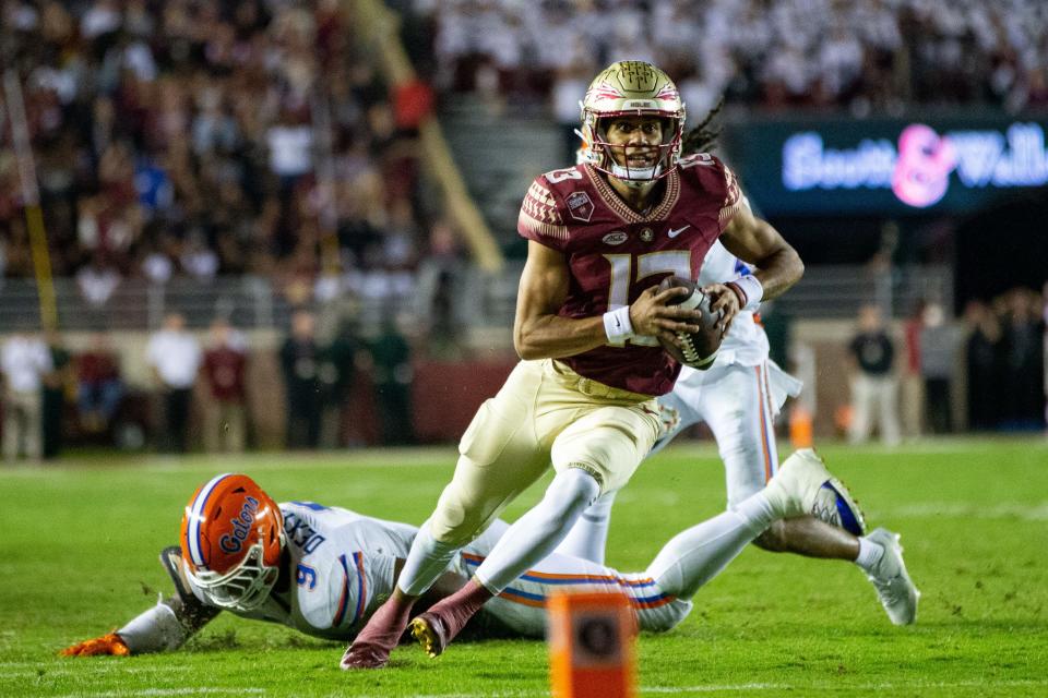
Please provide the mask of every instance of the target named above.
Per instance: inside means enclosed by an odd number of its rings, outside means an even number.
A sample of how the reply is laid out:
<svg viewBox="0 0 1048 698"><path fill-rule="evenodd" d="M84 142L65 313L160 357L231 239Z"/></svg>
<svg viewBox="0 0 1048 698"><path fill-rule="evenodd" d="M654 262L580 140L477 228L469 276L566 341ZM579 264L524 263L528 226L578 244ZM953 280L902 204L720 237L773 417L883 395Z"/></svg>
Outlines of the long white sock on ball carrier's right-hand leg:
<svg viewBox="0 0 1048 698"><path fill-rule="evenodd" d="M553 552L598 494L600 485L585 470L569 468L558 472L543 501L509 528L477 567L477 580L491 593L501 593Z"/></svg>

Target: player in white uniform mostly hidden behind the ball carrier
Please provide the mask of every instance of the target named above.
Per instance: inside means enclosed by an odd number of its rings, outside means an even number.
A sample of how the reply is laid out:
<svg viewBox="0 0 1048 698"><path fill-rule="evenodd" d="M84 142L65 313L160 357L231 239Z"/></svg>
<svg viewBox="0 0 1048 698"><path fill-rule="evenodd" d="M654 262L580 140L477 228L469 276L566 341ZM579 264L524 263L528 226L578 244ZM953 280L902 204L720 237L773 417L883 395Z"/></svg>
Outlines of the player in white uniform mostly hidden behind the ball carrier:
<svg viewBox="0 0 1048 698"><path fill-rule="evenodd" d="M688 132L684 153L712 149L717 131L710 123L719 109L718 105ZM698 282L707 287L749 272L748 265L715 242L703 260ZM787 395L796 397L802 387L769 358L769 349L755 312L740 311L713 365L703 371L683 366L674 389L658 398L666 430L648 455L665 448L684 429L706 422L724 462L729 509L760 491L777 472L775 417ZM603 562L614 503L614 492L598 498L558 550ZM885 529L864 533L805 516L776 521L753 542L775 552L854 562L873 585L889 619L895 625L913 623L920 592L906 573L898 534Z"/></svg>

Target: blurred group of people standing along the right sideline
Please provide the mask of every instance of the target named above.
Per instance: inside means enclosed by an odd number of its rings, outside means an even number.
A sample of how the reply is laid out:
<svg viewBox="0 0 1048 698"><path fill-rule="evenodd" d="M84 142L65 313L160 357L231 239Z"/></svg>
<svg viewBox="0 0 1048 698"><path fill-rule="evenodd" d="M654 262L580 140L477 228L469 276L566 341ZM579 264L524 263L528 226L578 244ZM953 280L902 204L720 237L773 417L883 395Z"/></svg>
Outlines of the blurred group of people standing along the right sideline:
<svg viewBox="0 0 1048 698"><path fill-rule="evenodd" d="M1048 293L1048 285L1045 287ZM874 423L889 445L961 431L1038 430L1048 418L1048 297L1014 288L969 301L960 323L919 302L898 327L861 309L848 346L851 401L838 429L853 443Z"/></svg>

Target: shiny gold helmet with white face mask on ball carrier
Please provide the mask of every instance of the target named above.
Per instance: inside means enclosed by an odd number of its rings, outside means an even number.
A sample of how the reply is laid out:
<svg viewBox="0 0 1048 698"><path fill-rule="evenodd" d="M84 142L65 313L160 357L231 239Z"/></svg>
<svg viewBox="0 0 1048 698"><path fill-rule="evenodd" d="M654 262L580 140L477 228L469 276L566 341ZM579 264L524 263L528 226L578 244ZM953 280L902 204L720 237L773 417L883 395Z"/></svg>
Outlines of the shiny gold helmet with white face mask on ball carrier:
<svg viewBox="0 0 1048 698"><path fill-rule="evenodd" d="M669 122L653 167L631 168L611 157L607 122L623 116L656 116ZM651 182L668 174L677 164L683 132L684 103L669 75L643 61L611 63L593 79L582 100L579 159L627 183Z"/></svg>

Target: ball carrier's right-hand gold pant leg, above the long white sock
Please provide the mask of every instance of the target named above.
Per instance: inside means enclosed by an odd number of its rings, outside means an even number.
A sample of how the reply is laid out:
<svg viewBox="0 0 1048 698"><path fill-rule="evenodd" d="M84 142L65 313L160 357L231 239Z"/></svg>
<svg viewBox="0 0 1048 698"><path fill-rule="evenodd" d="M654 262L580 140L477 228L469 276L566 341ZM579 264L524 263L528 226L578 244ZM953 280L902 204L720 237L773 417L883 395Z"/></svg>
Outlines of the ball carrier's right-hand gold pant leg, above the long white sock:
<svg viewBox="0 0 1048 698"><path fill-rule="evenodd" d="M602 494L621 489L655 443L656 412L654 400L595 407L553 440L553 468L582 468L597 479Z"/></svg>

